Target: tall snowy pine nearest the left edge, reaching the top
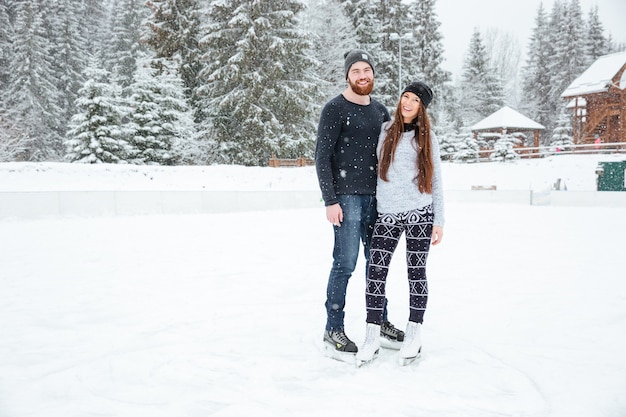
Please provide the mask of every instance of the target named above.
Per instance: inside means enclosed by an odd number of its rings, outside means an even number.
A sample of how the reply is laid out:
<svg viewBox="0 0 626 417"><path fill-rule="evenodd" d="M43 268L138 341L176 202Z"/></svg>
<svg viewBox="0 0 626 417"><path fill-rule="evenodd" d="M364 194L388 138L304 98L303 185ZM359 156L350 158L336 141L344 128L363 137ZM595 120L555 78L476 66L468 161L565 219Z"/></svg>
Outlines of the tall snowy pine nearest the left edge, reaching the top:
<svg viewBox="0 0 626 417"><path fill-rule="evenodd" d="M16 0L14 42L9 63L5 109L31 138L25 158L56 160L62 154L60 94L56 88L54 57L39 1Z"/></svg>

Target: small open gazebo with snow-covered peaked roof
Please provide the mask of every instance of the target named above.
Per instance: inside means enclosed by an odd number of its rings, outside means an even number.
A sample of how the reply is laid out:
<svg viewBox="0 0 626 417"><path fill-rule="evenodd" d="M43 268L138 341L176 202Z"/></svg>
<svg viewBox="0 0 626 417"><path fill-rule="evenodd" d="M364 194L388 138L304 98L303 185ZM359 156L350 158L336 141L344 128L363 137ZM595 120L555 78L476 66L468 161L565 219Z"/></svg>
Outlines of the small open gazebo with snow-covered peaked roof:
<svg viewBox="0 0 626 417"><path fill-rule="evenodd" d="M526 143L516 146L517 148L538 147L541 132L545 130L545 127L512 108L504 106L473 125L470 129L474 134L474 139L478 139L480 136L484 142L489 144L488 148L482 149L488 150L493 148L492 142L495 142L497 138L507 133L510 135L521 133L526 137ZM493 140L490 140L491 136L493 136ZM532 142L530 142L531 139Z"/></svg>

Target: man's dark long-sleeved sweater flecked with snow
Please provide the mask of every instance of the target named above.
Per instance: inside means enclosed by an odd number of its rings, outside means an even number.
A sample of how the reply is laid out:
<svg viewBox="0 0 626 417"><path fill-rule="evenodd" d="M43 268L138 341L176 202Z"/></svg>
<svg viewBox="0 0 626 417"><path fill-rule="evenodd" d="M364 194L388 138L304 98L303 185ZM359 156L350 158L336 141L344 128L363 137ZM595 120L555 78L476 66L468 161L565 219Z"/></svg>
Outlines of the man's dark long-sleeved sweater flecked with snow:
<svg viewBox="0 0 626 417"><path fill-rule="evenodd" d="M315 168L326 206L336 204L339 194L376 194L376 145L380 128L389 119L387 108L374 99L360 105L340 94L326 103L315 147Z"/></svg>

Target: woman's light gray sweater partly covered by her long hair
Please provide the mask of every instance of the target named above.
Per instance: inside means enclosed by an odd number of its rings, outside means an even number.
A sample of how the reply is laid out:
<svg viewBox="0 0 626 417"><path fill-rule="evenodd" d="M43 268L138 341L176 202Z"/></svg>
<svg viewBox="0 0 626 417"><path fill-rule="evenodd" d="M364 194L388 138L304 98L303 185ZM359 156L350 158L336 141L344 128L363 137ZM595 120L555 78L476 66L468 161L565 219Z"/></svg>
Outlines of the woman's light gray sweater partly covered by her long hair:
<svg viewBox="0 0 626 417"><path fill-rule="evenodd" d="M387 134L387 129L391 126L391 121L383 123L378 138L376 153L380 159L380 149ZM404 132L400 143L396 149L393 162L389 166L387 179L383 181L378 176L376 184L376 200L379 213L402 213L410 210L425 207L429 204L433 206L433 225L443 227L443 185L441 181L441 157L439 153L439 142L431 131L433 152L433 192L432 194L420 193L415 183L417 176L417 149L413 137L415 131Z"/></svg>

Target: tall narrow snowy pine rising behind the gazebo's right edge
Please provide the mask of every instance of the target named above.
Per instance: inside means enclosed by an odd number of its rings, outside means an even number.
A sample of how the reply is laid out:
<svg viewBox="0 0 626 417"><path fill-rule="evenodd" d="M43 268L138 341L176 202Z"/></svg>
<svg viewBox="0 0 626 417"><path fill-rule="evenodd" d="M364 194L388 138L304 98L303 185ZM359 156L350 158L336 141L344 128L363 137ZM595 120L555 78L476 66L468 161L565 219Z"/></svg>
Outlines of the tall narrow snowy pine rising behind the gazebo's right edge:
<svg viewBox="0 0 626 417"><path fill-rule="evenodd" d="M535 27L528 44L526 65L522 71L524 99L521 101L520 109L544 126L550 126L553 120L550 80L554 52L549 28L543 5L539 5Z"/></svg>

